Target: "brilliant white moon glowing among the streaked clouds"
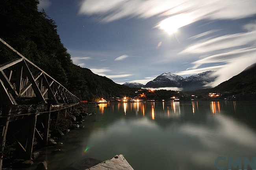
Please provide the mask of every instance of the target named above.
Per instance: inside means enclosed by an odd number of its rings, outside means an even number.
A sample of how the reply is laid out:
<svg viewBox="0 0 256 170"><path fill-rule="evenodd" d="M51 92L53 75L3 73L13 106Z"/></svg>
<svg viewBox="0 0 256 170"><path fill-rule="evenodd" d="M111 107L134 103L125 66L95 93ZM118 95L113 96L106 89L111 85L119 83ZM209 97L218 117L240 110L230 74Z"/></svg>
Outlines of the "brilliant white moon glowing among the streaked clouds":
<svg viewBox="0 0 256 170"><path fill-rule="evenodd" d="M188 14L174 15L161 21L158 25L160 29L165 30L167 33L172 34L177 31L178 28L186 26L191 22Z"/></svg>

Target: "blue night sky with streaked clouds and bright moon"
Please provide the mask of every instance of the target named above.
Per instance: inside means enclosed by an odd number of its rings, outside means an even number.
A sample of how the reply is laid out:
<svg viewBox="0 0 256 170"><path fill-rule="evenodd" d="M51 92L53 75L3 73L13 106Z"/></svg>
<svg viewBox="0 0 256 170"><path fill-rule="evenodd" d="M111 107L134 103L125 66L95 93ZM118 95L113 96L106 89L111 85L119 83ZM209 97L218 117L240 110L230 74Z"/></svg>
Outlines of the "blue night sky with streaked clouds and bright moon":
<svg viewBox="0 0 256 170"><path fill-rule="evenodd" d="M114 82L214 70L217 86L256 62L256 0L40 0L74 64Z"/></svg>

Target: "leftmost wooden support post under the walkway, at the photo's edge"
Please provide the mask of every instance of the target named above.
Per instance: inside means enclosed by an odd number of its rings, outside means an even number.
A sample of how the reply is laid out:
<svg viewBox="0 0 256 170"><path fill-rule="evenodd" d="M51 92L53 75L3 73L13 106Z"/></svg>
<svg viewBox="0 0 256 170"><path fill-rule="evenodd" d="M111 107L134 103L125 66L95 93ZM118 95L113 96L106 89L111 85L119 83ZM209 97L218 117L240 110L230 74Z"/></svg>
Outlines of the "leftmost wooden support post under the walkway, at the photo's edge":
<svg viewBox="0 0 256 170"><path fill-rule="evenodd" d="M9 124L10 113L7 113L7 114L2 113L0 115L8 116L8 117L1 118L2 120L0 121L1 122L0 125L2 125L2 128L1 128L2 135L0 136L0 146L1 146L1 152L4 152L4 147L6 144L6 133L7 133L7 128L8 128L8 124ZM0 157L0 170L2 170L2 164L3 164L3 155L1 155L1 157Z"/></svg>

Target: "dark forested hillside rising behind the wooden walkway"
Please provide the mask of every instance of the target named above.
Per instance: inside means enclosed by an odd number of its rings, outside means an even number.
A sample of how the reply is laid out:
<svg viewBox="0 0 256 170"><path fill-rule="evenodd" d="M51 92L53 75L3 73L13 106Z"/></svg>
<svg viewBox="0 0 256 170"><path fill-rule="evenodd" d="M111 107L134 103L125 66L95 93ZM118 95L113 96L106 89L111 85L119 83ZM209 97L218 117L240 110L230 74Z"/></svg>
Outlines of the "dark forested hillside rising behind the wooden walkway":
<svg viewBox="0 0 256 170"><path fill-rule="evenodd" d="M54 19L37 11L39 0L1 0L0 38L63 84L81 100L134 95L136 89L116 84L73 64L61 43ZM0 64L16 58L0 46Z"/></svg>

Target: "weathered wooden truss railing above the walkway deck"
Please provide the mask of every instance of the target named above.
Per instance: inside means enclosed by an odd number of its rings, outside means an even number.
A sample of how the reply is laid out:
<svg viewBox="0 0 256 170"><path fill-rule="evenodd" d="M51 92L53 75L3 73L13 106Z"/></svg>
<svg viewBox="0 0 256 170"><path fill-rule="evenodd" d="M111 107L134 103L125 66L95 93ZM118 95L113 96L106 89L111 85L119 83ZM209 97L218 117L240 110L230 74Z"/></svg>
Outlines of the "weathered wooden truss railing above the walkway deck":
<svg viewBox="0 0 256 170"><path fill-rule="evenodd" d="M80 99L0 38L0 44L17 59L0 65L0 105L34 98L50 104L74 104ZM33 68L33 73L29 68Z"/></svg>

